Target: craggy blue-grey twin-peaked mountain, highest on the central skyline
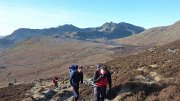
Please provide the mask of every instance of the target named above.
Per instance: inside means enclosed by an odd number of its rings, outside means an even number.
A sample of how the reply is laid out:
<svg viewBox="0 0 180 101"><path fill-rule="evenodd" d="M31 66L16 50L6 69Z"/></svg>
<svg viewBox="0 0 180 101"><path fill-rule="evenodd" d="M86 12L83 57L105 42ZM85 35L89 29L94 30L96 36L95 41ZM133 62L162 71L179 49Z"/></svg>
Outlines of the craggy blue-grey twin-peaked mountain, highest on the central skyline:
<svg viewBox="0 0 180 101"><path fill-rule="evenodd" d="M79 32L75 36L83 39L117 39L138 34L145 29L125 22L121 23L105 23L100 27L91 29L88 32Z"/></svg>

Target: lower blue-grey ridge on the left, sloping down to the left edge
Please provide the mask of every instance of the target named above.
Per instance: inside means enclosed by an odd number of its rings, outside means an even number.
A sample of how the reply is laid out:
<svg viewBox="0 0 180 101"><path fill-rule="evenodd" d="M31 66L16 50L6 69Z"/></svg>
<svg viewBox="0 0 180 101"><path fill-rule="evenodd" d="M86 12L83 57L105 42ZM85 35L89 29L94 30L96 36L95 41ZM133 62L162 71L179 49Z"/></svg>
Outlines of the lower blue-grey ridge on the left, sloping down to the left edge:
<svg viewBox="0 0 180 101"><path fill-rule="evenodd" d="M47 28L47 29L20 28L15 30L11 35L8 35L0 39L0 46L5 46L5 47L12 46L33 37L40 37L43 35L47 36L53 34L63 34L65 32L69 32L69 31L73 32L78 30L79 28L67 24L63 26L58 26L56 28Z"/></svg>

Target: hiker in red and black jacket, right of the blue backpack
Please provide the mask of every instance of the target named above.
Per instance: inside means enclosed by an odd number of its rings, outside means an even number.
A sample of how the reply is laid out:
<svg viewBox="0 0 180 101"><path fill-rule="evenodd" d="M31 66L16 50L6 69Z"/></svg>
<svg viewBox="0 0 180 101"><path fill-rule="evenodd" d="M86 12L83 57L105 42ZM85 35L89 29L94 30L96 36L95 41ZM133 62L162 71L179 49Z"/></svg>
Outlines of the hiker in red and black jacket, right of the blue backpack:
<svg viewBox="0 0 180 101"><path fill-rule="evenodd" d="M97 65L97 70L93 77L94 98L95 101L104 101L106 96L106 86L109 84L109 91L111 90L111 74L105 65Z"/></svg>

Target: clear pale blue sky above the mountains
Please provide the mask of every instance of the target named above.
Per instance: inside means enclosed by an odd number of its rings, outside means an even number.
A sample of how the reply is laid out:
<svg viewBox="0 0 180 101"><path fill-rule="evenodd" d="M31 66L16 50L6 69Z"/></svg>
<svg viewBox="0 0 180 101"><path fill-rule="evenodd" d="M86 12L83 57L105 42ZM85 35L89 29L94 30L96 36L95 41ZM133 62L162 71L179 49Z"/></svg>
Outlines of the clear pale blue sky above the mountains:
<svg viewBox="0 0 180 101"><path fill-rule="evenodd" d="M18 28L127 22L146 29L180 20L180 0L0 0L0 36Z"/></svg>

